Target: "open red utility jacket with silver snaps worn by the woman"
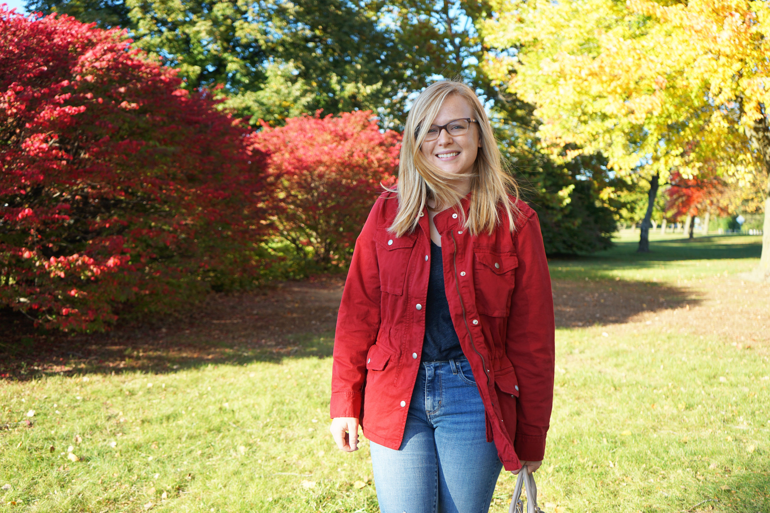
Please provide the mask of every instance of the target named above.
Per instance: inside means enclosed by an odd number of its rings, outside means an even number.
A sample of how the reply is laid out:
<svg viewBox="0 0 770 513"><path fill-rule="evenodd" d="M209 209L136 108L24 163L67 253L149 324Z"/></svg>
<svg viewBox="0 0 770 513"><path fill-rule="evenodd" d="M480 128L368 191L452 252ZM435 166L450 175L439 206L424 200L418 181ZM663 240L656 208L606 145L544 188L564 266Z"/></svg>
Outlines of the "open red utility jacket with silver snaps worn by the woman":
<svg viewBox="0 0 770 513"><path fill-rule="evenodd" d="M470 195L462 200L468 212ZM363 434L398 449L425 334L430 276L427 210L412 233L387 231L396 195L377 199L353 252L337 317L331 417L359 418ZM470 235L453 208L441 235L449 310L506 470L539 461L554 394L554 302L537 214L524 202L492 235Z"/></svg>

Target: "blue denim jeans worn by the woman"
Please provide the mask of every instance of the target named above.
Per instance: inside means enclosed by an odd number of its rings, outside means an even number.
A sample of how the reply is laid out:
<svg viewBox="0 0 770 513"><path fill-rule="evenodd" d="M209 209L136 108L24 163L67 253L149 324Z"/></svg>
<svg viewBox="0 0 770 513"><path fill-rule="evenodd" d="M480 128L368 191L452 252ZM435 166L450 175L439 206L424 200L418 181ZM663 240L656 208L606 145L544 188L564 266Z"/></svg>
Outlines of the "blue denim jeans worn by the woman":
<svg viewBox="0 0 770 513"><path fill-rule="evenodd" d="M466 359L420 364L401 447L370 441L381 513L487 513L500 475Z"/></svg>

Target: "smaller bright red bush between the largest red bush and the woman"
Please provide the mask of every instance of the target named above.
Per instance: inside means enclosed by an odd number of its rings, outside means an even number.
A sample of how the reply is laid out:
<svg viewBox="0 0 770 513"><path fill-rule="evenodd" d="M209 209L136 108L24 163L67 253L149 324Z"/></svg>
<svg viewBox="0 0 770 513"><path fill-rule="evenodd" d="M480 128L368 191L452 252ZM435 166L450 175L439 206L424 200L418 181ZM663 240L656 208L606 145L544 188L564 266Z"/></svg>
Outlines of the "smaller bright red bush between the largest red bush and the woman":
<svg viewBox="0 0 770 513"><path fill-rule="evenodd" d="M400 135L380 132L370 111L304 115L251 136L276 182L280 235L321 268L343 266L377 195L392 183Z"/></svg>

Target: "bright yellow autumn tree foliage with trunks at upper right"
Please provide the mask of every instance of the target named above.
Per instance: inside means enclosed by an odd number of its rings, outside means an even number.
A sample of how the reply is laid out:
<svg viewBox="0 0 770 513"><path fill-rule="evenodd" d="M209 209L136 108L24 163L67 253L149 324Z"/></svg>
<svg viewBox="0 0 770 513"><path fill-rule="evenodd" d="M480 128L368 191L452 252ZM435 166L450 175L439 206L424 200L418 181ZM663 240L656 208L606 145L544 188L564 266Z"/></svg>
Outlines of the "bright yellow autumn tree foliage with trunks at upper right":
<svg viewBox="0 0 770 513"><path fill-rule="evenodd" d="M710 162L708 172L761 182L767 212L767 5L662 4L500 0L484 26L497 48L487 69L537 105L545 143L604 153L621 175L648 178L651 199L669 172L695 175ZM768 216L764 233L758 274L766 277ZM643 229L642 251L645 244Z"/></svg>

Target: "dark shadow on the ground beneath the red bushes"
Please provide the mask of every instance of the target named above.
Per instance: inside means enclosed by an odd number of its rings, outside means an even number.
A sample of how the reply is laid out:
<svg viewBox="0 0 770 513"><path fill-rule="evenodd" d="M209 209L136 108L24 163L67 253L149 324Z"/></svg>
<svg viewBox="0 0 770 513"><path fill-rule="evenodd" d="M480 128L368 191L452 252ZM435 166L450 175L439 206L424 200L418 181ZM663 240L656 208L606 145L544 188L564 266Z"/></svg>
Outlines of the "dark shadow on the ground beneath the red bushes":
<svg viewBox="0 0 770 513"><path fill-rule="evenodd" d="M123 372L164 373L206 365L326 358L341 297L340 280L290 282L275 290L212 295L195 312L118 325L109 333L35 330L0 311L0 379Z"/></svg>

